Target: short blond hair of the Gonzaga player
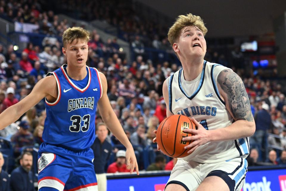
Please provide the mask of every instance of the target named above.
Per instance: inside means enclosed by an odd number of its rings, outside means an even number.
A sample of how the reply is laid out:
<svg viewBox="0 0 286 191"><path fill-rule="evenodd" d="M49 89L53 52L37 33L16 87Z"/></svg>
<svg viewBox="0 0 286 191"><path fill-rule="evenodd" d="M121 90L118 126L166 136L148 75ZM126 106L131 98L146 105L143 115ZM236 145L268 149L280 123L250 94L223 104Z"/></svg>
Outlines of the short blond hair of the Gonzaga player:
<svg viewBox="0 0 286 191"><path fill-rule="evenodd" d="M67 43L71 44L74 39L89 41L89 32L82 27L68 28L63 32L63 47L66 48Z"/></svg>

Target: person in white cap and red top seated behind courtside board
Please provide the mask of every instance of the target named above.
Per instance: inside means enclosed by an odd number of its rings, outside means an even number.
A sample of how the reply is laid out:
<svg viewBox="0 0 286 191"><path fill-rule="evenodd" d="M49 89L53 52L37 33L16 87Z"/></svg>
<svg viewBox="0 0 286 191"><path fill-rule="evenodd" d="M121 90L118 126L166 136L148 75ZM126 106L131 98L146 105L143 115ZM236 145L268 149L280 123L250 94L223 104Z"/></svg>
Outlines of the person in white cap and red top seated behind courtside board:
<svg viewBox="0 0 286 191"><path fill-rule="evenodd" d="M119 150L116 153L116 161L111 163L107 168L107 173L115 172L129 172L126 165L126 152L125 150Z"/></svg>

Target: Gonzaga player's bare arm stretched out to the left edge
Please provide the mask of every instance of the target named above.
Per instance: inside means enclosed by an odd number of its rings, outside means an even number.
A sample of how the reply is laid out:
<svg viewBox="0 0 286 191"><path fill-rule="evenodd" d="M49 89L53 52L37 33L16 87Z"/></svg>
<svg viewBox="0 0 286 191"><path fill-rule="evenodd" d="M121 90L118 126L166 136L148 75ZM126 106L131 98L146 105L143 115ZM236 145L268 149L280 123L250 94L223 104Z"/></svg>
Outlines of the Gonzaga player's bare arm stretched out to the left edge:
<svg viewBox="0 0 286 191"><path fill-rule="evenodd" d="M54 76L47 76L38 81L28 96L4 110L0 114L0 130L15 122L44 97L49 101L55 101L57 98L57 83Z"/></svg>

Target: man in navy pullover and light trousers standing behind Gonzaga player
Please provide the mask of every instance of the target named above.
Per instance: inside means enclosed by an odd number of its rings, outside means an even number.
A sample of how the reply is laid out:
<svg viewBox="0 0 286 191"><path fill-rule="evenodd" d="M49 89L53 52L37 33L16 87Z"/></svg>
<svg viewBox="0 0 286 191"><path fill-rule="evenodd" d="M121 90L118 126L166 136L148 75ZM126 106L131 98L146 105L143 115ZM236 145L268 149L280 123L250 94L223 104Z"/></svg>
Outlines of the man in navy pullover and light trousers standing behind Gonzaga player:
<svg viewBox="0 0 286 191"><path fill-rule="evenodd" d="M91 149L94 152L94 171L96 174L98 190L106 191L107 179L105 175L105 165L110 157L112 146L108 142L108 130L104 123L97 124L95 133L97 137L91 146Z"/></svg>

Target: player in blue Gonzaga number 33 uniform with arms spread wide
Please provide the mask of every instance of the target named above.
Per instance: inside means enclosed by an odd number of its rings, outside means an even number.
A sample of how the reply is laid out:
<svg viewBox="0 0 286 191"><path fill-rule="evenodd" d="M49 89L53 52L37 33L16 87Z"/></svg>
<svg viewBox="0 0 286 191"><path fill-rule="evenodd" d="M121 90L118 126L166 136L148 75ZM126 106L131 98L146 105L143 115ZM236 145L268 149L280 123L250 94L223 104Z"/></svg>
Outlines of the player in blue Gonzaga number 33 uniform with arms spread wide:
<svg viewBox="0 0 286 191"><path fill-rule="evenodd" d="M86 66L89 33L72 27L63 33L63 65L40 80L32 92L0 115L0 129L16 121L43 98L46 99L44 143L39 148L38 188L40 191L97 190L93 167L95 115L98 107L106 126L126 147L130 173L138 165L107 97L105 76Z"/></svg>

